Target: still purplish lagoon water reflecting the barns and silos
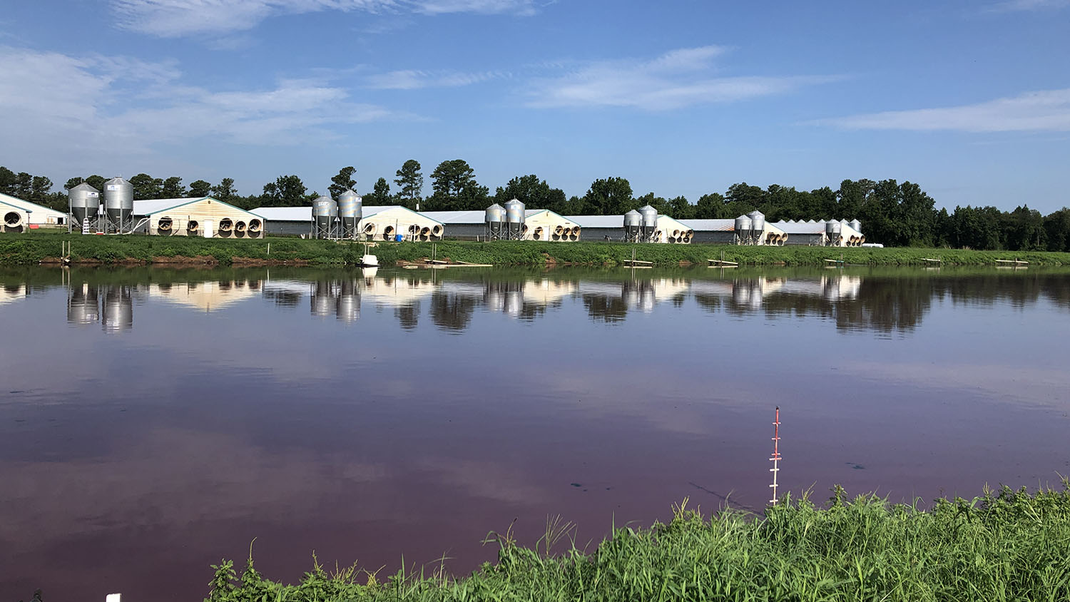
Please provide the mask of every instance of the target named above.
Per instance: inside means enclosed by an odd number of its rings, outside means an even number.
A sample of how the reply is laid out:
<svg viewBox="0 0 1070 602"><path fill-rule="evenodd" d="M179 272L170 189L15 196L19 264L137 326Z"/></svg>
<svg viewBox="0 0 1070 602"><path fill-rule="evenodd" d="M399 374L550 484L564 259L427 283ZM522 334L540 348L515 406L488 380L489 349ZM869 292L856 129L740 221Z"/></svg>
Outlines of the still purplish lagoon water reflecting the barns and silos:
<svg viewBox="0 0 1070 602"><path fill-rule="evenodd" d="M1070 473L1070 271L0 271L0 600ZM48 599L46 598L46 599Z"/></svg>

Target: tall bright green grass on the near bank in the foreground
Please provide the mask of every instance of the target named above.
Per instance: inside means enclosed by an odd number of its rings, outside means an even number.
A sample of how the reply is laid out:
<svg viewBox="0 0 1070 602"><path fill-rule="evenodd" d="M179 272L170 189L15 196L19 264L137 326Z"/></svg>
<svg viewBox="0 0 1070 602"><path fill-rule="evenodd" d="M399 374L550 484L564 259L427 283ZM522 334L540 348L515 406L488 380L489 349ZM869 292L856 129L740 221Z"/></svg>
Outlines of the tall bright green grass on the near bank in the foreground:
<svg viewBox="0 0 1070 602"><path fill-rule="evenodd" d="M253 567L213 566L210 602L356 600L1070 600L1070 493L1003 490L931 510L838 492L764 518L704 519L677 508L669 524L621 528L578 550L565 528L534 547L495 536L496 564L453 578L434 569L388 578L317 566L282 585ZM564 544L553 553L553 544Z"/></svg>

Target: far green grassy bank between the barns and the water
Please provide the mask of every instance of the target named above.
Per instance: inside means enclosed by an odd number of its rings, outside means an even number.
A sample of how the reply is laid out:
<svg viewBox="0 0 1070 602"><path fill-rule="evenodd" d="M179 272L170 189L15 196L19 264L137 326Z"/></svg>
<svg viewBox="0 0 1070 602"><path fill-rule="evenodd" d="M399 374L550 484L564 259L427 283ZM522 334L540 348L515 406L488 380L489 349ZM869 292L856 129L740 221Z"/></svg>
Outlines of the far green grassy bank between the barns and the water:
<svg viewBox="0 0 1070 602"><path fill-rule="evenodd" d="M63 243L71 243L74 263L311 263L354 264L364 245L301 238L221 240L185 236L82 236L54 232L0 234L0 264L36 264L57 261ZM270 245L270 247L269 247ZM972 251L916 248L822 248L738 247L734 245L633 245L625 243L379 243L371 251L384 265L419 262L432 254L468 263L494 265L582 264L618 265L636 258L655 265L699 264L723 259L750 265L824 265L826 259L843 259L863 265L930 265L941 259L947 265L995 265L996 260L1024 260L1029 265L1070 265L1070 253Z"/></svg>

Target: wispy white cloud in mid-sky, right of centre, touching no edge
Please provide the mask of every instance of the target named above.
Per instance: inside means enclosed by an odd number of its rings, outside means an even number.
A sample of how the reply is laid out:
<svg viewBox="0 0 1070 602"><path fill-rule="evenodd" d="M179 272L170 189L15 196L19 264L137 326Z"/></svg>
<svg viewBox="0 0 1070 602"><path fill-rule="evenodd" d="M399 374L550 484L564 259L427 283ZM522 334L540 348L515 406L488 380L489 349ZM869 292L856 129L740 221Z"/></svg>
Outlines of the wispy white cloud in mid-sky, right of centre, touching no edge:
<svg viewBox="0 0 1070 602"><path fill-rule="evenodd" d="M825 83L830 76L716 75L721 46L681 48L653 60L601 61L572 72L538 78L531 86L532 107L635 107L660 111L707 103L729 103Z"/></svg>

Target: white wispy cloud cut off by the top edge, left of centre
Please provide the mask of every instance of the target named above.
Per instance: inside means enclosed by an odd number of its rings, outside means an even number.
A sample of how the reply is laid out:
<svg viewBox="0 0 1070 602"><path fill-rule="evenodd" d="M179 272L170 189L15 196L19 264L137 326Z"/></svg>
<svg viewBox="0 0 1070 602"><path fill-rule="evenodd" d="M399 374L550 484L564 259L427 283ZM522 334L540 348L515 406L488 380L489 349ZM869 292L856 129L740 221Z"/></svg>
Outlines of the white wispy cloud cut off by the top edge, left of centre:
<svg viewBox="0 0 1070 602"><path fill-rule="evenodd" d="M269 17L320 11L531 15L536 5L534 0L111 0L111 10L123 29L181 37L244 31Z"/></svg>

